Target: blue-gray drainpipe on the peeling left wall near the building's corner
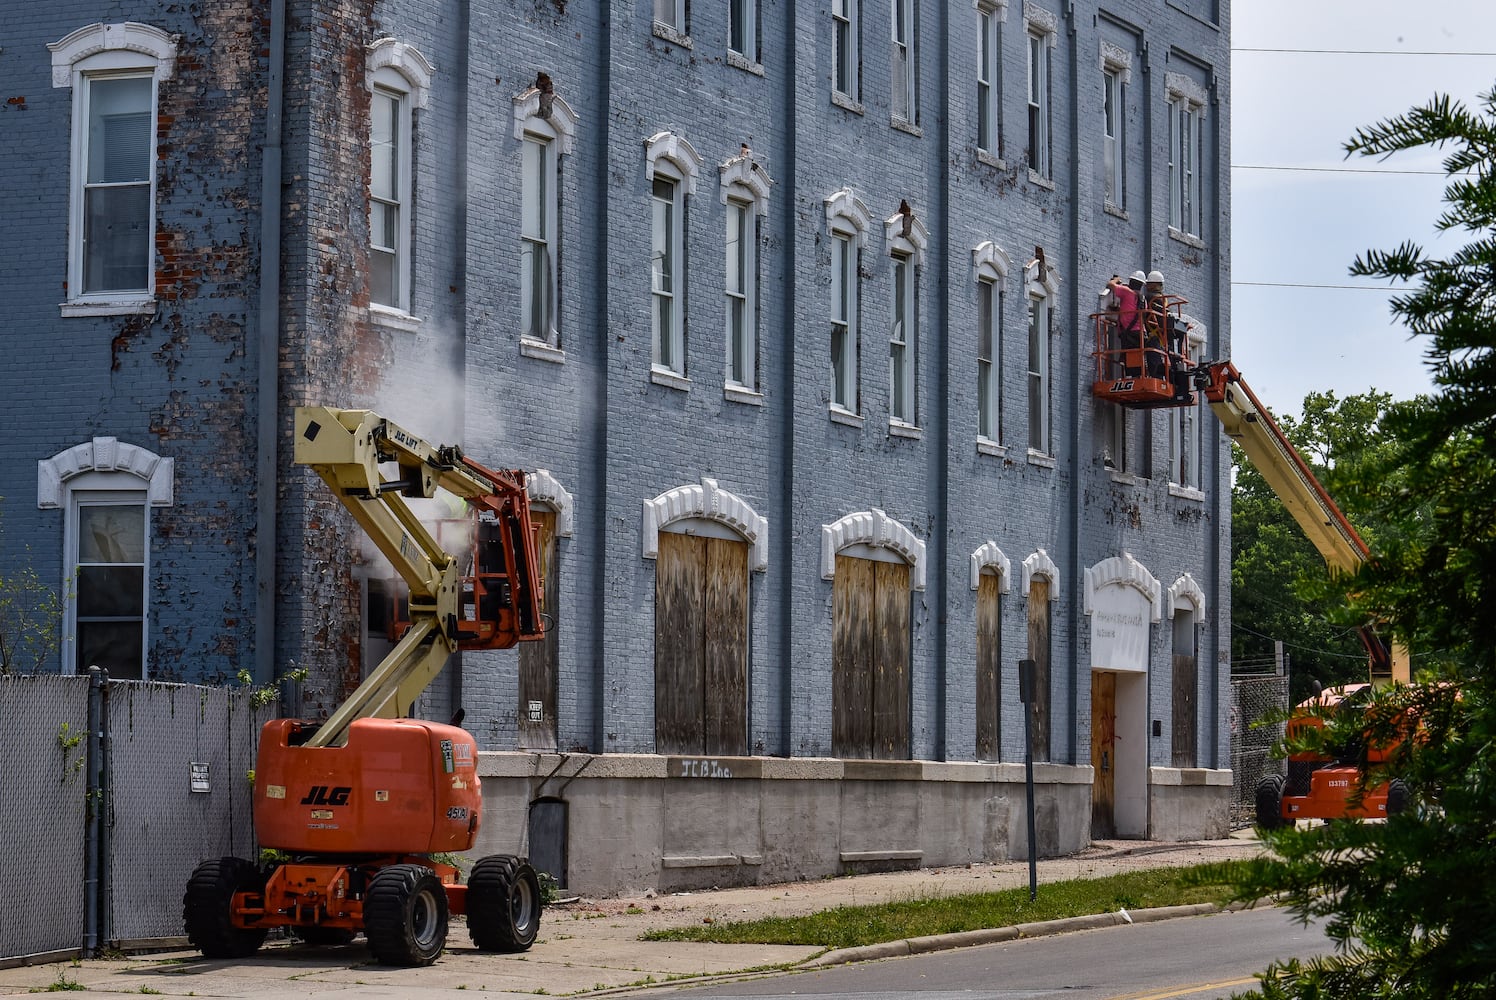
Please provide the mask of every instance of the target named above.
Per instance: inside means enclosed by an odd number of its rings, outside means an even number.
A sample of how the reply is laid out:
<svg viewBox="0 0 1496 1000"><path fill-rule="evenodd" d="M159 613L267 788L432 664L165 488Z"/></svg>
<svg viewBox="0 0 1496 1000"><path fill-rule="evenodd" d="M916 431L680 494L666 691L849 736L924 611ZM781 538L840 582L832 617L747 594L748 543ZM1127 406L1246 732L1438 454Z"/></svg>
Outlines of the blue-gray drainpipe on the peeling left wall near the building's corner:
<svg viewBox="0 0 1496 1000"><path fill-rule="evenodd" d="M286 0L271 0L265 148L260 153L259 407L254 463L254 683L275 680L275 543L280 442L281 103Z"/></svg>

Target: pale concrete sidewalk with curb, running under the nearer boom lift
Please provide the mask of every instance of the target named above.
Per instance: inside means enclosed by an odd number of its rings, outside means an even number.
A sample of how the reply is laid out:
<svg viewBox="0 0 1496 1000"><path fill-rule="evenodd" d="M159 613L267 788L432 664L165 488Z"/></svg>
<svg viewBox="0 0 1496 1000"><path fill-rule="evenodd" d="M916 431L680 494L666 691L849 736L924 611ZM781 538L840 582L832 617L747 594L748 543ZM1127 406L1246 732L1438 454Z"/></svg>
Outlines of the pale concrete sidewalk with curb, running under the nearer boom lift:
<svg viewBox="0 0 1496 1000"><path fill-rule="evenodd" d="M1251 831L1231 840L1185 844L1153 841L1098 841L1068 858L1038 862L1040 883L1083 879L1137 868L1183 867L1206 861L1246 858L1258 850ZM51 988L84 988L103 994L151 993L196 997L422 997L456 999L479 993L491 1000L534 996L577 996L627 991L643 985L711 978L815 960L857 961L911 951L968 946L1001 940L995 931L954 934L947 939L893 942L856 954L824 955L818 948L778 945L700 945L640 942L639 934L687 924L742 921L758 916L814 913L836 906L884 903L957 892L984 892L1028 885L1028 862L978 864L962 868L926 868L887 874L850 876L775 886L706 892L643 895L616 900L576 900L552 906L540 925L540 939L521 955L479 954L468 942L461 918L453 919L447 951L426 969L387 969L370 963L362 943L310 949L268 945L253 958L205 961L193 951L157 952L126 960L88 960L0 969L0 996ZM1174 907L1186 916L1198 907ZM1143 915L1138 919L1147 919ZM1101 924L1121 916L1103 915ZM1100 925L1098 921L1055 921L1029 925L1023 934L1061 933ZM1011 931L1007 937L1013 937Z"/></svg>

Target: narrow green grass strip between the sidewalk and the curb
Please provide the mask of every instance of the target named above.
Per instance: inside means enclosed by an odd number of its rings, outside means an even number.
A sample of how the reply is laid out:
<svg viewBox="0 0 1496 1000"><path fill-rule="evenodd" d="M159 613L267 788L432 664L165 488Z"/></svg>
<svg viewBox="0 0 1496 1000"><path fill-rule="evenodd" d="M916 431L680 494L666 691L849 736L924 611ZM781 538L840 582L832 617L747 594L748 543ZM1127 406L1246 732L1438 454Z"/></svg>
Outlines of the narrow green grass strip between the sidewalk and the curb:
<svg viewBox="0 0 1496 1000"><path fill-rule="evenodd" d="M1140 910L1188 903L1222 904L1231 898L1222 865L1152 868L1100 879L1071 879L999 892L919 897L872 906L838 906L805 916L770 916L649 931L649 942L715 942L723 945L808 945L859 948L928 934L953 934L989 927L1011 927L1118 909Z"/></svg>

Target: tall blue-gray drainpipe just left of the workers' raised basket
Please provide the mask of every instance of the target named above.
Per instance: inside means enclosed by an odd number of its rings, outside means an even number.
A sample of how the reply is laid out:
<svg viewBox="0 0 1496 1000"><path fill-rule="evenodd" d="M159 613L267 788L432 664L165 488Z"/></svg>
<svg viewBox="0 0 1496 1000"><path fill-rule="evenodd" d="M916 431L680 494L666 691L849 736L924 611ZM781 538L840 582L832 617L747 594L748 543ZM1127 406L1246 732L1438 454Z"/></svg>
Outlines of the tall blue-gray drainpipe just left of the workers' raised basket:
<svg viewBox="0 0 1496 1000"><path fill-rule="evenodd" d="M1080 289L1080 42L1076 33L1076 4L1065 4L1065 36L1070 39L1070 308L1074 322L1071 329L1080 329L1080 317L1085 301ZM1074 475L1070 478L1070 572L1065 590L1070 591L1070 740L1065 747L1065 762L1080 763L1080 623L1085 615L1080 608L1085 603L1082 579L1085 570L1080 564L1080 499L1085 490L1080 485L1080 410L1088 404L1089 395L1083 388L1091 385L1085 377L1080 364L1085 352L1083 340L1071 338L1070 392L1076 401L1070 421L1070 461L1074 463ZM1086 355L1088 356L1088 355ZM1089 356L1088 356L1089 358ZM1089 675L1089 671L1086 671Z"/></svg>

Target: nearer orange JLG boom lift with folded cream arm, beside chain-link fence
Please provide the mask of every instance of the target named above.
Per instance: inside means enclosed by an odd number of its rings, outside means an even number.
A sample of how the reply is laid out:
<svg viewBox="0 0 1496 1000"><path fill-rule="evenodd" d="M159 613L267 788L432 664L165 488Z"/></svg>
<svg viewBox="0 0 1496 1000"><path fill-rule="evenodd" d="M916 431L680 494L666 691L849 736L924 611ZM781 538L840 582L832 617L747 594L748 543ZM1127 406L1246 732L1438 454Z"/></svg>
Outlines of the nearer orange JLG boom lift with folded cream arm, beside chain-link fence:
<svg viewBox="0 0 1496 1000"><path fill-rule="evenodd" d="M477 744L456 725L408 719L456 650L542 638L540 578L525 478L438 448L368 410L298 407L295 461L353 513L410 588L410 627L326 722L272 719L254 766L259 843L289 858L205 861L183 900L187 937L209 958L254 952L274 927L311 945L362 931L383 964L425 966L467 915L480 951L524 951L540 888L524 858L477 861L467 883L438 859L470 850L482 822ZM380 466L393 463L386 479ZM464 499L471 552L444 552L405 499Z"/></svg>

